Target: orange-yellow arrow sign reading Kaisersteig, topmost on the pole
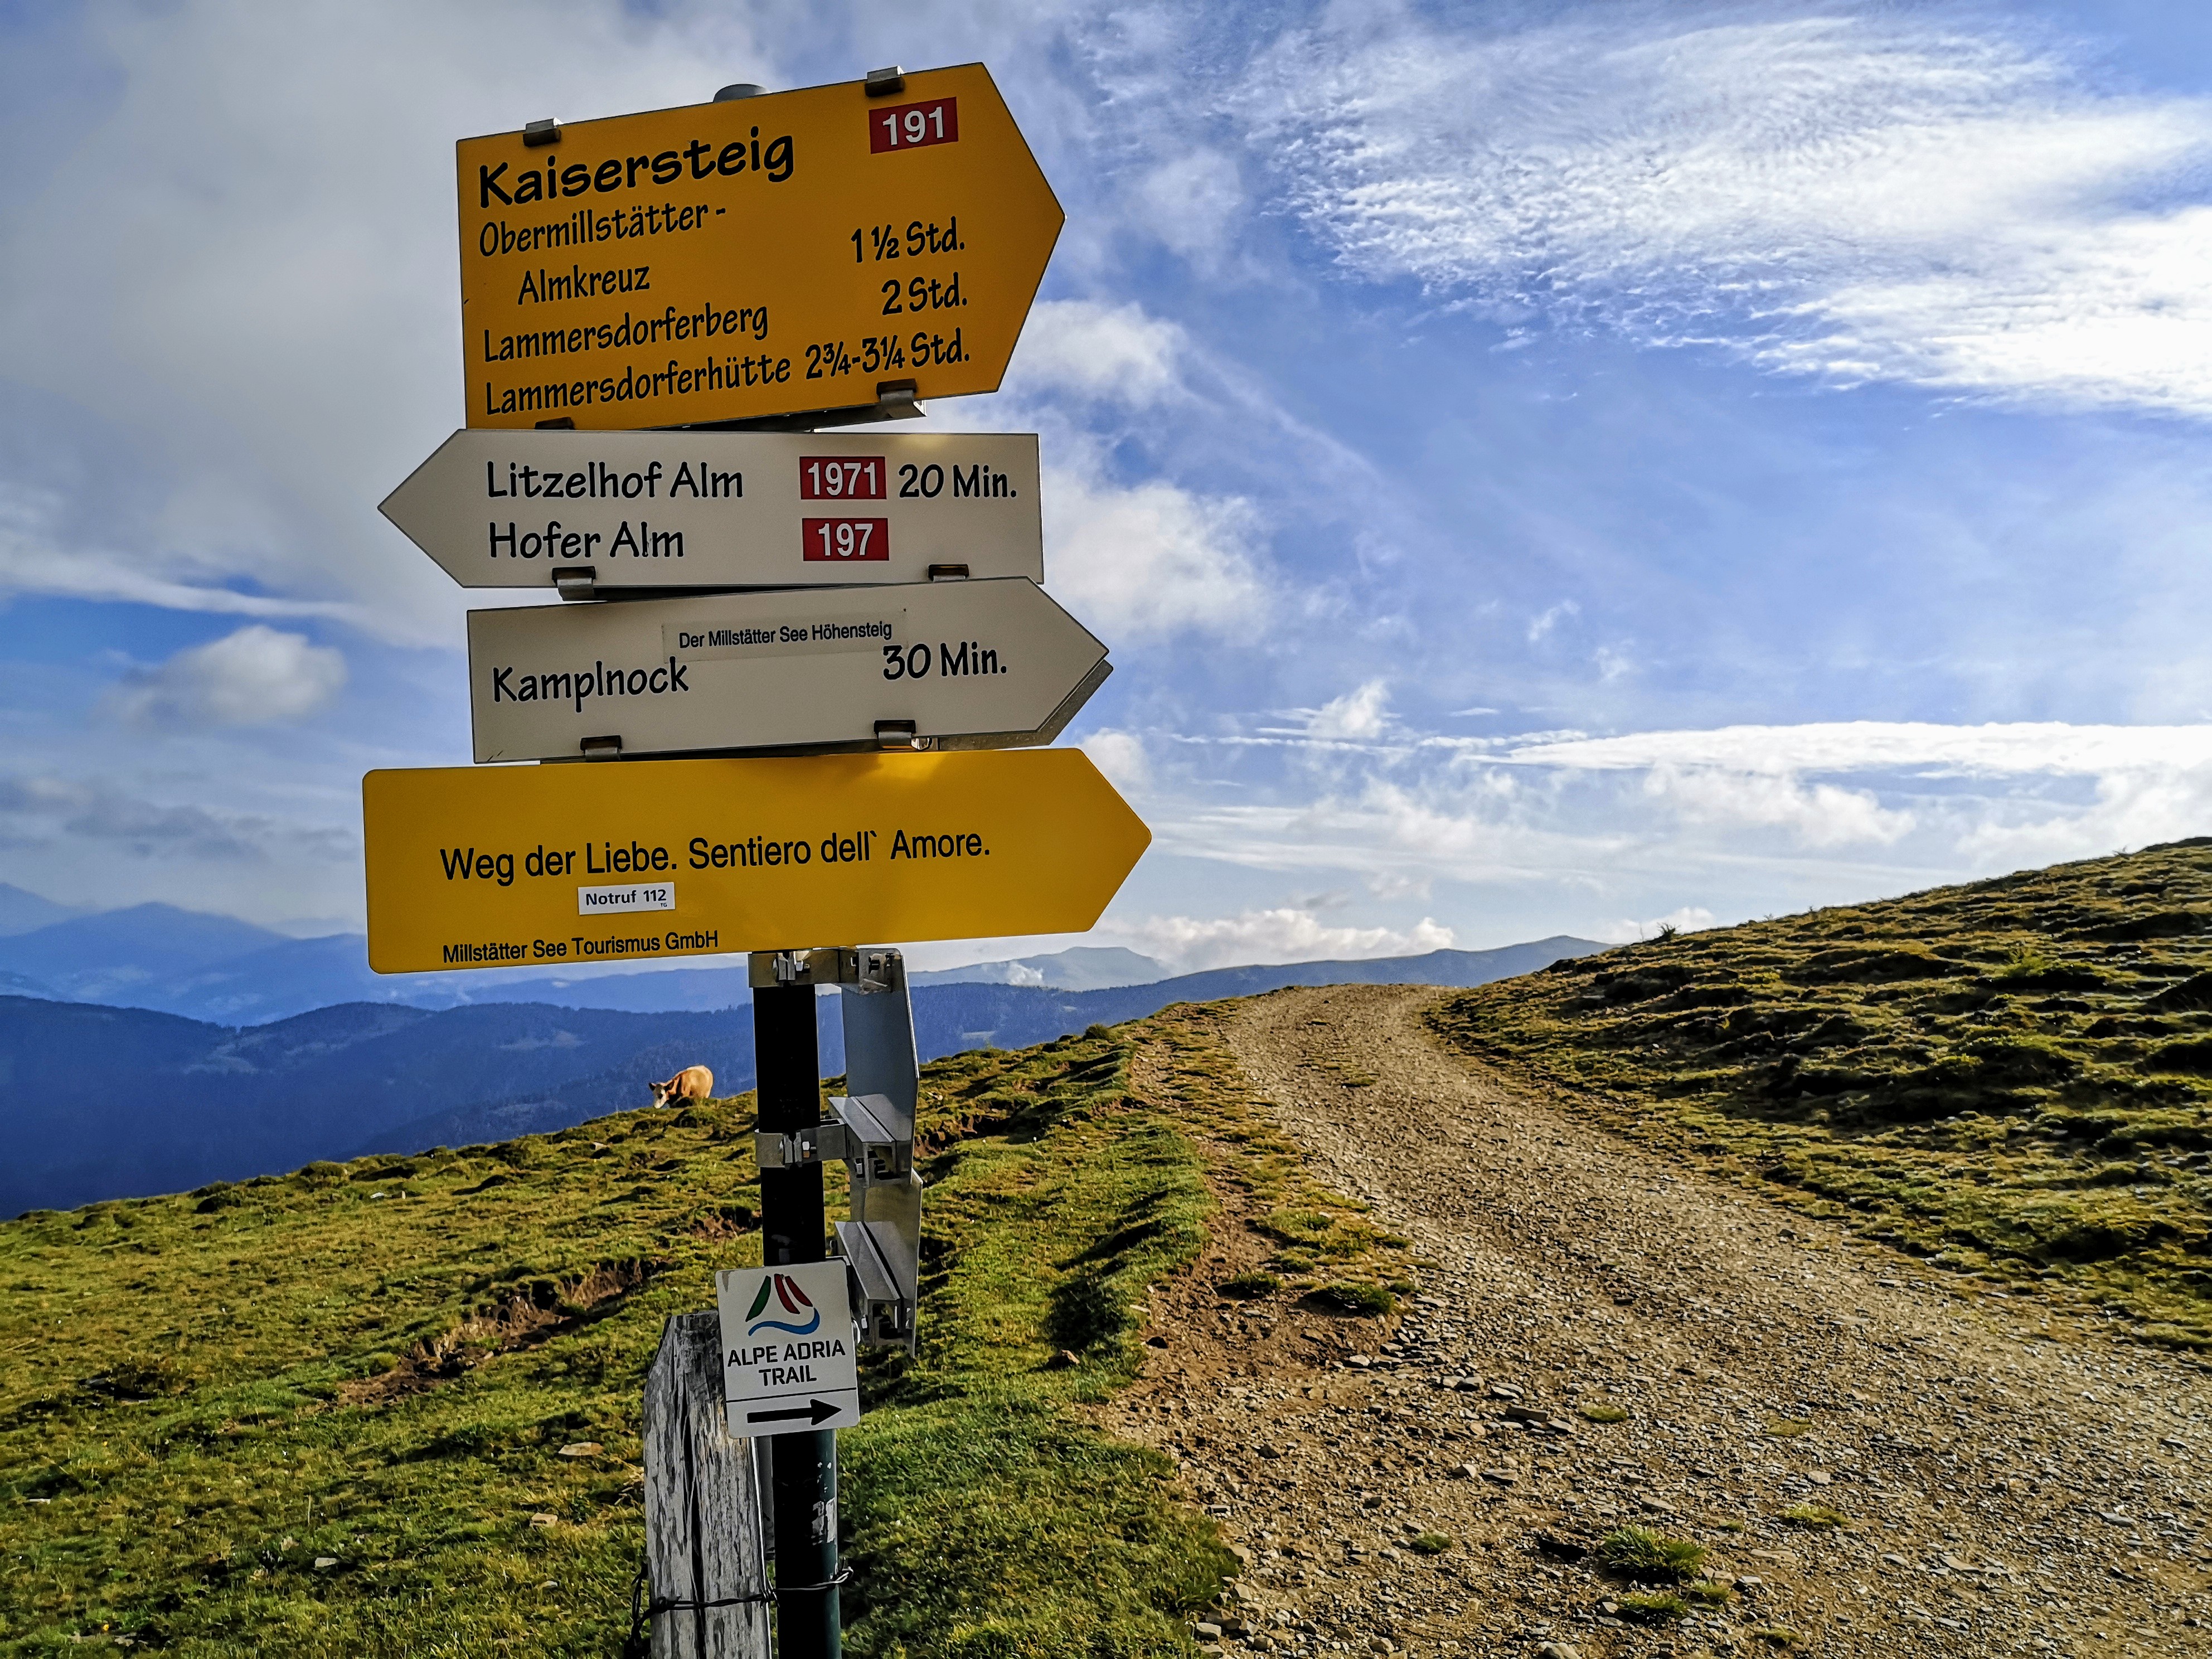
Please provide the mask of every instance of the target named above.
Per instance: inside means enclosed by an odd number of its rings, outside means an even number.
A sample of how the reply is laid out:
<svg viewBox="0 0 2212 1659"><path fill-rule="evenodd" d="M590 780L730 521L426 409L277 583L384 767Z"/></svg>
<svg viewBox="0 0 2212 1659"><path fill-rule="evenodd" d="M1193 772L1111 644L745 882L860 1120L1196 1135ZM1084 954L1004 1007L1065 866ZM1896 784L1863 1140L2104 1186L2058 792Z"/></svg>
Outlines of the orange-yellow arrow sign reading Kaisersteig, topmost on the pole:
<svg viewBox="0 0 2212 1659"><path fill-rule="evenodd" d="M995 389L1060 204L982 64L867 86L462 139L469 425Z"/></svg>

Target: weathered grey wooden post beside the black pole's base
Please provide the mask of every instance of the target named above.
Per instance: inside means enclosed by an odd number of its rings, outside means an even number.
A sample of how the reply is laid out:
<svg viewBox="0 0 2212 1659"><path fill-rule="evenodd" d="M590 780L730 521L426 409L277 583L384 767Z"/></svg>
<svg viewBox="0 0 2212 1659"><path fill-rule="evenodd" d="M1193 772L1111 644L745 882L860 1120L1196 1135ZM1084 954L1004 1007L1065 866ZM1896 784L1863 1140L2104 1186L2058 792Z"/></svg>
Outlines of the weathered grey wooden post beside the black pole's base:
<svg viewBox="0 0 2212 1659"><path fill-rule="evenodd" d="M670 1318L646 1374L646 1595L653 1659L768 1659L761 1482L730 1433L714 1310Z"/></svg>

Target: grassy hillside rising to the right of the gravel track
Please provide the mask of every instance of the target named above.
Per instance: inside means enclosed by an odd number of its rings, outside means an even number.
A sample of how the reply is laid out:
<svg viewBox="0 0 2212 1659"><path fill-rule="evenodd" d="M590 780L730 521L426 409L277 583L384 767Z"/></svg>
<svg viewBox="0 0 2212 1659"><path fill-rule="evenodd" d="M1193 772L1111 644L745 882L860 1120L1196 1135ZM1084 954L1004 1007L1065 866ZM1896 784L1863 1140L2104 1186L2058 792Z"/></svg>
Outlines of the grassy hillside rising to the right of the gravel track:
<svg viewBox="0 0 2212 1659"><path fill-rule="evenodd" d="M2212 838L1661 938L1433 1020L1869 1237L2212 1347Z"/></svg>

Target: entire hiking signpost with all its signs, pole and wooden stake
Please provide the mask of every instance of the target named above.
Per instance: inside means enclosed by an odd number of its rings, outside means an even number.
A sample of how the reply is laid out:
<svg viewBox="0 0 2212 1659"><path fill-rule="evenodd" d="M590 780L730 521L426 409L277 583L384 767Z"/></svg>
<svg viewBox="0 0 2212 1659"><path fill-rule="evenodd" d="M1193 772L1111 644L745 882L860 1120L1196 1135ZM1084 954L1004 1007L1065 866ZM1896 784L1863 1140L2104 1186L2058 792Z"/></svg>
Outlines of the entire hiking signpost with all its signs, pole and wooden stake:
<svg viewBox="0 0 2212 1659"><path fill-rule="evenodd" d="M476 759L586 763L369 772L369 967L752 953L761 1267L717 1276L719 1354L675 1321L648 1383L633 1619L659 1659L750 1652L772 1601L783 1659L836 1659L834 1431L856 1349L914 1352L922 1243L905 962L858 940L1084 931L1150 832L1037 748L1110 668L1040 586L1035 436L816 429L993 392L1060 204L982 64L531 122L456 164L467 429L383 511L465 588L597 602L469 615ZM768 1590L732 1436L774 1447Z"/></svg>

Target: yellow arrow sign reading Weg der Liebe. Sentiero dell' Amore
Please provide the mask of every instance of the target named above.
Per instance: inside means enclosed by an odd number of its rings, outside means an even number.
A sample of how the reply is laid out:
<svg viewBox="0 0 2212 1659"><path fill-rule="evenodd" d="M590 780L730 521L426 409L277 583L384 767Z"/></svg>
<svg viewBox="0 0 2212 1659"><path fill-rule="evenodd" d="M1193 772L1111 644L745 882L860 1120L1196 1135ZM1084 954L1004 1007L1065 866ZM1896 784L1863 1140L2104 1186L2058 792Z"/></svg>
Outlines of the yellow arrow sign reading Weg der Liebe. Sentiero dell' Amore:
<svg viewBox="0 0 2212 1659"><path fill-rule="evenodd" d="M369 772L369 967L1079 933L1152 841L1082 750Z"/></svg>

